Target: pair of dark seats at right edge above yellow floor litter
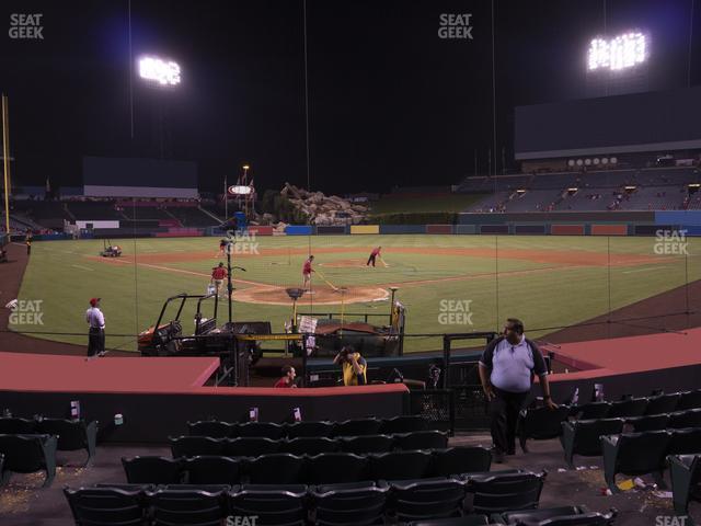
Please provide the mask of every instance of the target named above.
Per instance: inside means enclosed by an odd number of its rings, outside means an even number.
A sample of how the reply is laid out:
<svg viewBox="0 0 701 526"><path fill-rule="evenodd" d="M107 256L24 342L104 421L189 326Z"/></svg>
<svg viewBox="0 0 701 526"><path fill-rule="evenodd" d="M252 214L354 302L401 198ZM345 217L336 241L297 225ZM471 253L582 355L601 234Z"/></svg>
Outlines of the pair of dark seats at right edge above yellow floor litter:
<svg viewBox="0 0 701 526"><path fill-rule="evenodd" d="M604 476L612 492L618 473L651 473L657 485L665 488L663 472L668 455L701 454L701 427L674 431L646 431L601 436Z"/></svg>

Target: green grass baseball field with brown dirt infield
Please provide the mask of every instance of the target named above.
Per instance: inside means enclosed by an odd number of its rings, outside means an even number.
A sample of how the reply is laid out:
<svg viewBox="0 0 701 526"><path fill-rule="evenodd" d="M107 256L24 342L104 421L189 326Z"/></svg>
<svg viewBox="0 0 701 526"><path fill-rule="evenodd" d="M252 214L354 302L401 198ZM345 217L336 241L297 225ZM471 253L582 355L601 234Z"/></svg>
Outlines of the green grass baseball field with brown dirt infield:
<svg viewBox="0 0 701 526"><path fill-rule="evenodd" d="M99 256L102 240L36 242L19 299L41 316L15 319L11 328L84 344L88 300L101 297L107 347L134 351L136 334L156 322L165 298L207 291L212 267L226 262L218 243L119 240L123 256L107 259ZM313 294L299 300L300 312L389 315L388 289L399 287L409 334L494 330L504 318L519 317L536 338L700 279L701 240L683 243L640 237L244 237L233 252L233 264L245 268L234 272L233 316L269 320L274 332L283 332L291 318L285 288L301 285L302 263L312 253ZM366 266L378 245L382 260ZM220 304L220 322L226 312ZM194 302L181 317L184 333L193 331L193 315ZM440 345L439 336L407 338L405 351Z"/></svg>

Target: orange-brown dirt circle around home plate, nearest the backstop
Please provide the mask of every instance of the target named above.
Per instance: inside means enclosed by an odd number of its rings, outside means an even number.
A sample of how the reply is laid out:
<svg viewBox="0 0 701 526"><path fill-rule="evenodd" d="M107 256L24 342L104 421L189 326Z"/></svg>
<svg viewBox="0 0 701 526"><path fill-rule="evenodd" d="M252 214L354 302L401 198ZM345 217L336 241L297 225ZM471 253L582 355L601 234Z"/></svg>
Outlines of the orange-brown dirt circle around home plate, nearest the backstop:
<svg viewBox="0 0 701 526"><path fill-rule="evenodd" d="M342 287L340 287L342 288ZM380 287L347 287L334 291L333 288L314 287L313 294L304 293L297 300L302 306L313 301L315 305L364 304L389 299L390 293ZM283 287L250 287L233 291L233 299L258 305L292 305L292 300Z"/></svg>

